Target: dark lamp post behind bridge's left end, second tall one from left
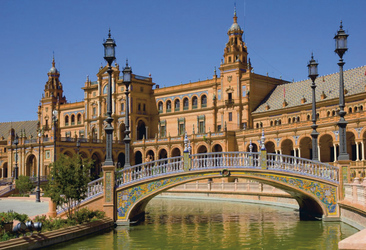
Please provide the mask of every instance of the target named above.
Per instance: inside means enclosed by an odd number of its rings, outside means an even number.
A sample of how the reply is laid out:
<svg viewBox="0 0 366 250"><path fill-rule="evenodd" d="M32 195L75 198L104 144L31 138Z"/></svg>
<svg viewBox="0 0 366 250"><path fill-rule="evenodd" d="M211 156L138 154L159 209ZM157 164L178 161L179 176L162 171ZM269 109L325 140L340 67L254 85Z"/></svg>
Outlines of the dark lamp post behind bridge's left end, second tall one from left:
<svg viewBox="0 0 366 250"><path fill-rule="evenodd" d="M129 168L131 167L130 164L130 142L131 142L131 138L130 138L130 114L129 114L129 98L128 98L128 94L129 92L129 86L131 84L131 74L132 74L132 69L131 67L128 66L128 61L126 60L126 67L123 69L123 84L126 86L125 89L125 94L126 94L126 114L125 114L125 125L126 125L126 130L125 130L125 138L123 139L123 141L125 142L125 168Z"/></svg>

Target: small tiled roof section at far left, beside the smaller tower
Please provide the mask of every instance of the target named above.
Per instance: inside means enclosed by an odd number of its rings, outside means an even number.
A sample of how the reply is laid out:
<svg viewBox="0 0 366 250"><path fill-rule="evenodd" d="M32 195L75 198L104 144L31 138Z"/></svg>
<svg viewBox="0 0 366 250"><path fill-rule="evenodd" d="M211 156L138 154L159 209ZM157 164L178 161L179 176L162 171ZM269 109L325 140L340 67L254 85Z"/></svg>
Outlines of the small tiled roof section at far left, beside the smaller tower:
<svg viewBox="0 0 366 250"><path fill-rule="evenodd" d="M20 136L21 131L25 131L27 137L37 137L37 123L35 121L21 121L21 122L1 122L0 123L0 137L3 136L5 139L9 136L11 128L15 130L15 133Z"/></svg>

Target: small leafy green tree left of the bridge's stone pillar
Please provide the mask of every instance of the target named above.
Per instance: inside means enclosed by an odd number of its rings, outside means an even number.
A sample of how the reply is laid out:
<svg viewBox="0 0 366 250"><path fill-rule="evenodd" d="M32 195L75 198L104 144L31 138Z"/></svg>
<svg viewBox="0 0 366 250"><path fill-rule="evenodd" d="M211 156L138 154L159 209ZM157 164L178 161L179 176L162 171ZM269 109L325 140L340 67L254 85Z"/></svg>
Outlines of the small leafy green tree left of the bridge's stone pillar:
<svg viewBox="0 0 366 250"><path fill-rule="evenodd" d="M61 155L51 165L46 195L57 206L67 209L69 218L74 210L72 205L86 198L92 163L92 160L81 159L79 155L73 157Z"/></svg>

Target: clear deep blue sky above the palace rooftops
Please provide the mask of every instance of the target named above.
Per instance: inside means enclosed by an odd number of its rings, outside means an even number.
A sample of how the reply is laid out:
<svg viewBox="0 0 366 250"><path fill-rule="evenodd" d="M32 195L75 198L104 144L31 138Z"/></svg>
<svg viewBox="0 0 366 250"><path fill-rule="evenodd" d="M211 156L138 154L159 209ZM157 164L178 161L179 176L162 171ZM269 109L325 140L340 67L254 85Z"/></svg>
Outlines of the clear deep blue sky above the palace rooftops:
<svg viewBox="0 0 366 250"><path fill-rule="evenodd" d="M160 87L212 78L234 5L254 72L307 79L338 72L334 35L349 34L344 69L366 64L365 0L0 0L0 122L37 119L52 57L68 102L83 100L111 29L117 63ZM121 67L122 69L122 67ZM219 73L219 72L218 72ZM309 90L310 91L310 90Z"/></svg>

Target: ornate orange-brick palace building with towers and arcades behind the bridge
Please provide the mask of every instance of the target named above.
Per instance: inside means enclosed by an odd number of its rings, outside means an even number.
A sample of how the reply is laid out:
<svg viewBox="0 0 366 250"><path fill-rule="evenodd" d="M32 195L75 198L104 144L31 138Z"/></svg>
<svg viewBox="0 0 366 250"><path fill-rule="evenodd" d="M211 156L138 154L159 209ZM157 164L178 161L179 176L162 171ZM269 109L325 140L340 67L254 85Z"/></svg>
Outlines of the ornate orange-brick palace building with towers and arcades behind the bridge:
<svg viewBox="0 0 366 250"><path fill-rule="evenodd" d="M243 32L235 13L221 65L211 79L159 88L151 76L132 75L131 165L182 155L185 133L193 154L257 151L264 131L267 152L312 158L311 80L289 82L254 73ZM107 69L101 67L96 79L87 78L83 101L69 103L53 59L37 119L0 123L1 178L12 177L16 163L19 175L37 176L40 164L44 176L57 155L77 153L94 159L92 174L100 175ZM113 161L122 168L127 104L122 68L115 64L112 69ZM366 66L344 72L347 151L354 167L365 162L365 72ZM319 160L332 163L339 154L339 73L319 76L315 83Z"/></svg>

